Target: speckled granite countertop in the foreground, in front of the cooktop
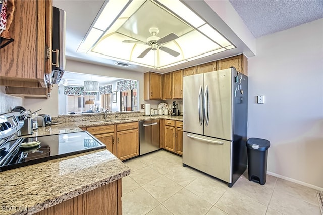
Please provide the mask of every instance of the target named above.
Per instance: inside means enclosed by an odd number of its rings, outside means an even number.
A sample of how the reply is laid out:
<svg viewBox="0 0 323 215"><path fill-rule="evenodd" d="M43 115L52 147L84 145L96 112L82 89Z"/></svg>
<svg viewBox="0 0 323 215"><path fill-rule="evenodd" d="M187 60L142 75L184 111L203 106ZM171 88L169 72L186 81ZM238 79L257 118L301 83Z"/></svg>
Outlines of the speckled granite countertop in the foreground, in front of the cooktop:
<svg viewBox="0 0 323 215"><path fill-rule="evenodd" d="M23 208L39 212L129 174L130 168L106 149L4 171L1 214L27 214Z"/></svg>

